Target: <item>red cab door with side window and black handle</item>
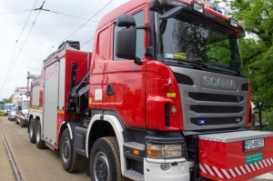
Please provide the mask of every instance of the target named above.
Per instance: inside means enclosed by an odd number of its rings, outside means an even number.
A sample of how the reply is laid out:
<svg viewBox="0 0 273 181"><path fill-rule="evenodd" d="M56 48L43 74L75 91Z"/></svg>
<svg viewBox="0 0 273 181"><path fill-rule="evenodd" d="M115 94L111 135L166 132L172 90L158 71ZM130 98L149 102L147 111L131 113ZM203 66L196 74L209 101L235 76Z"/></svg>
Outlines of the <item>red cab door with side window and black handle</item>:
<svg viewBox="0 0 273 181"><path fill-rule="evenodd" d="M136 26L145 25L146 8L139 7L131 12L136 20ZM145 30L136 32L136 56L142 65L136 65L133 60L116 57L116 32L121 28L113 25L112 60L106 65L106 106L116 110L122 122L127 126L146 127L146 64Z"/></svg>

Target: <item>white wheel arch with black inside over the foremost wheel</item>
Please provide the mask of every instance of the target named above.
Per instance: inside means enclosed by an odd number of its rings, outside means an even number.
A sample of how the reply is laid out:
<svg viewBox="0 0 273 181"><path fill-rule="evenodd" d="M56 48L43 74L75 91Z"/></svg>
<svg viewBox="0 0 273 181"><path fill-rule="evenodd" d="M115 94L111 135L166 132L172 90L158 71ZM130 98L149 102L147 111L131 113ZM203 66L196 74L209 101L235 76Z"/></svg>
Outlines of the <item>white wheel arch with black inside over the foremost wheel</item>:
<svg viewBox="0 0 273 181"><path fill-rule="evenodd" d="M120 154L121 173L123 173L126 170L126 163L123 150L124 145L123 131L124 127L121 125L120 121L116 116L113 115L93 116L87 128L86 157L89 158L90 151L96 139L104 136L116 136Z"/></svg>

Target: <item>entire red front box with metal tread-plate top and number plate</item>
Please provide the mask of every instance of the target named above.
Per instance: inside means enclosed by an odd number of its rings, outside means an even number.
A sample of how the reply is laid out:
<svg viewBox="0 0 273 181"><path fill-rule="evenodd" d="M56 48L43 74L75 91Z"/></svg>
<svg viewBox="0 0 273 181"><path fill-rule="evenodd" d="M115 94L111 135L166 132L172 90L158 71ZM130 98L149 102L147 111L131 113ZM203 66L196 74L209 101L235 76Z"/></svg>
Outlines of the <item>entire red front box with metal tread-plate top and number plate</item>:
<svg viewBox="0 0 273 181"><path fill-rule="evenodd" d="M273 170L273 133L238 131L199 136L200 176L248 180Z"/></svg>

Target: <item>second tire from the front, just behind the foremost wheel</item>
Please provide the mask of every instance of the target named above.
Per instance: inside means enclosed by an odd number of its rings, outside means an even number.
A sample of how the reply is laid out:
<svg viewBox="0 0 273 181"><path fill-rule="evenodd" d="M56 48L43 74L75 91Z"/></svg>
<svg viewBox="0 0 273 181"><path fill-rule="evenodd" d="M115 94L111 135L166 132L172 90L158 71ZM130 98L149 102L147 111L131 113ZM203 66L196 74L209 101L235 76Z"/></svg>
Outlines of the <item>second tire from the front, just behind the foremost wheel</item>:
<svg viewBox="0 0 273 181"><path fill-rule="evenodd" d="M66 172L72 173L83 170L87 165L87 159L80 156L74 150L73 140L66 128L61 137L60 158Z"/></svg>

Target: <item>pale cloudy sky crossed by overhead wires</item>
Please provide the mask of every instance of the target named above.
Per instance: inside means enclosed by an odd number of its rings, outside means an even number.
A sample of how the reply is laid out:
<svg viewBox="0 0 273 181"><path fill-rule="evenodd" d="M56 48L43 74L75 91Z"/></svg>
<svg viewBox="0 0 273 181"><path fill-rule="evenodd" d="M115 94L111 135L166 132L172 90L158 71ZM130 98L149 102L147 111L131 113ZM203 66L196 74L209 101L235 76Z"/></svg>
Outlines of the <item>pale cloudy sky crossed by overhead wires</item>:
<svg viewBox="0 0 273 181"><path fill-rule="evenodd" d="M96 25L128 0L0 0L0 100L40 75L43 60L66 40L92 52ZM40 10L39 10L40 9Z"/></svg>

